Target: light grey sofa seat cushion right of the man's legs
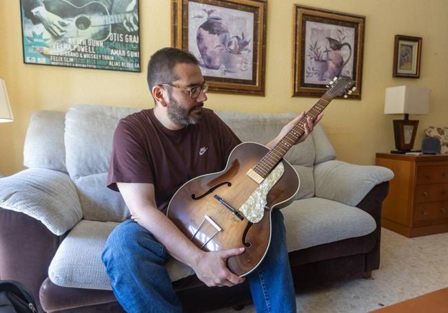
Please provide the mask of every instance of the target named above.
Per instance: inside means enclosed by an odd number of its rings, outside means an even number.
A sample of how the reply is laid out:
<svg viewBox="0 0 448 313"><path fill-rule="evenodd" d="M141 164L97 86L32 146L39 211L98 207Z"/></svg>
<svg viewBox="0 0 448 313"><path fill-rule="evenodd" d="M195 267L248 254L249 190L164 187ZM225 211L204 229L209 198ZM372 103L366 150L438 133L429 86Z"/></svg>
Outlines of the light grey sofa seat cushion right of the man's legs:
<svg viewBox="0 0 448 313"><path fill-rule="evenodd" d="M282 209L288 251L327 244L373 232L373 217L354 206L312 197Z"/></svg>

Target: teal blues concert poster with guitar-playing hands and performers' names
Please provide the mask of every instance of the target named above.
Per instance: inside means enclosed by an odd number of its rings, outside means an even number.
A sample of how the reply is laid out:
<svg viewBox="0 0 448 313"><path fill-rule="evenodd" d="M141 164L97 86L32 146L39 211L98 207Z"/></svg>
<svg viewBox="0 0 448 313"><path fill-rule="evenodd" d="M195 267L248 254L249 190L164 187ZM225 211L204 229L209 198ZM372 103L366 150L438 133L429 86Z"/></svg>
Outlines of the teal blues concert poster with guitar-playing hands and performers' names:
<svg viewBox="0 0 448 313"><path fill-rule="evenodd" d="M23 62L140 72L138 0L21 0Z"/></svg>

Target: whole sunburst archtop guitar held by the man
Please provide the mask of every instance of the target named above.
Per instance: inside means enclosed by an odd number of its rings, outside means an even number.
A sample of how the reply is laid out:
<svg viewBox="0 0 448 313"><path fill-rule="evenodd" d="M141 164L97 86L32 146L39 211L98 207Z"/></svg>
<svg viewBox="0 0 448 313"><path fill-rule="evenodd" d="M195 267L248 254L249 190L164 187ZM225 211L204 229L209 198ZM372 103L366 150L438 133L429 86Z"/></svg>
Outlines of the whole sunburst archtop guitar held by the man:
<svg viewBox="0 0 448 313"><path fill-rule="evenodd" d="M315 120L333 98L352 94L353 86L351 78L334 78L273 149L255 142L238 144L223 171L196 177L176 191L167 217L205 251L244 247L241 255L227 259L227 267L241 277L252 272L269 248L272 210L290 204L298 192L298 175L283 156L305 133L307 117Z"/></svg>

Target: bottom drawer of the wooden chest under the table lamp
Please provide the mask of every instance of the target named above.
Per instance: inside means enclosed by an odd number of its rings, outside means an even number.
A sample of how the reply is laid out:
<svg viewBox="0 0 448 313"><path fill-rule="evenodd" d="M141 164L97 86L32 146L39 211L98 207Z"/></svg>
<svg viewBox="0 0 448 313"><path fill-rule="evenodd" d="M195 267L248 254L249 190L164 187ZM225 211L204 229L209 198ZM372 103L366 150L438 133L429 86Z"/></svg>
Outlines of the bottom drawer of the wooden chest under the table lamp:
<svg viewBox="0 0 448 313"><path fill-rule="evenodd" d="M416 205L415 224L441 224L448 221L448 201L427 202Z"/></svg>

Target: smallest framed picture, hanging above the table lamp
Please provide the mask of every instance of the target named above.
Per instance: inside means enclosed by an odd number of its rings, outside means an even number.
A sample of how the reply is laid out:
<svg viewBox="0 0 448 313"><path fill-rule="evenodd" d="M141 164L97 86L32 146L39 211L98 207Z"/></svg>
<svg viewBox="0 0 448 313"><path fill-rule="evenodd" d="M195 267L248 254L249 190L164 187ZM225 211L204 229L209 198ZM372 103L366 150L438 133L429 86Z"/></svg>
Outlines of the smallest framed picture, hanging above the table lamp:
<svg viewBox="0 0 448 313"><path fill-rule="evenodd" d="M421 57L421 37L395 35L394 77L419 78Z"/></svg>

